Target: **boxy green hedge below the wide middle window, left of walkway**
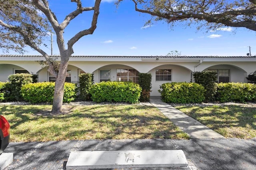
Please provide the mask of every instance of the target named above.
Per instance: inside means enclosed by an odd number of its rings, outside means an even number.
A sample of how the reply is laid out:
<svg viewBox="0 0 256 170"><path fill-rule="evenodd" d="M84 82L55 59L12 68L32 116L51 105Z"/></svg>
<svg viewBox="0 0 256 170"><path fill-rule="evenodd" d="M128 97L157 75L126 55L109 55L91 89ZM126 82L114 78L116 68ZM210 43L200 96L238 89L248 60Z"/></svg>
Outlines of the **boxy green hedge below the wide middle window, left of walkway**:
<svg viewBox="0 0 256 170"><path fill-rule="evenodd" d="M142 88L133 82L100 82L90 88L94 102L137 103Z"/></svg>

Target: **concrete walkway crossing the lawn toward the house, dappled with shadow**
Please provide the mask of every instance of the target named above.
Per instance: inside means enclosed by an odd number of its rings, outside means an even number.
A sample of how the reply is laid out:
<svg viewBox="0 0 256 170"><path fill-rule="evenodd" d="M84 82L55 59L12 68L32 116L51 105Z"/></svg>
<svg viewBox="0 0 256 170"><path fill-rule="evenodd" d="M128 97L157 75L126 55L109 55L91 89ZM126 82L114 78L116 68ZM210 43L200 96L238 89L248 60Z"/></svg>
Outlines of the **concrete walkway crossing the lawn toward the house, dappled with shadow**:
<svg viewBox="0 0 256 170"><path fill-rule="evenodd" d="M157 107L175 125L180 127L182 131L188 133L190 138L224 138L222 135L206 127L199 121L196 121L169 104L162 102L159 97L150 98L150 103L154 107Z"/></svg>

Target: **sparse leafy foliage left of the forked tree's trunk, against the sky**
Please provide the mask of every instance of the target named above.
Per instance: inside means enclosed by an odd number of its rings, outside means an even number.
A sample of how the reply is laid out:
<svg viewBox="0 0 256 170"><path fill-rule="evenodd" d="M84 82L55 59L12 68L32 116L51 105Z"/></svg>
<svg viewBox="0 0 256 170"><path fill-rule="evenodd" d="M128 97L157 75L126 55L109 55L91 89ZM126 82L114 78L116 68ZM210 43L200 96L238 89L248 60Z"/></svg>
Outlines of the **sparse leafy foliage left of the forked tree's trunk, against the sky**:
<svg viewBox="0 0 256 170"><path fill-rule="evenodd" d="M35 6L19 0L1 0L0 5L0 48L3 52L23 53L26 45L42 44L50 27Z"/></svg>

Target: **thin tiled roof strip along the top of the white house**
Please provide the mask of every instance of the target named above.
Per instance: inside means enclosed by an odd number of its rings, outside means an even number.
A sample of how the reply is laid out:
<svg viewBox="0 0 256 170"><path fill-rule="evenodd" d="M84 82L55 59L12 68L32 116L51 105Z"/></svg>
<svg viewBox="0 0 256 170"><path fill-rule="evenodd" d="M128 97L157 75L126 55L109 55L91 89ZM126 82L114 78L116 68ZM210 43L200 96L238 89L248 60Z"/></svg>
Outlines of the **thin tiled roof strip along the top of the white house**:
<svg viewBox="0 0 256 170"><path fill-rule="evenodd" d="M43 57L42 55L0 55L0 57ZM60 57L58 55L53 55L53 57ZM256 56L84 56L84 55L74 55L74 58L256 58Z"/></svg>

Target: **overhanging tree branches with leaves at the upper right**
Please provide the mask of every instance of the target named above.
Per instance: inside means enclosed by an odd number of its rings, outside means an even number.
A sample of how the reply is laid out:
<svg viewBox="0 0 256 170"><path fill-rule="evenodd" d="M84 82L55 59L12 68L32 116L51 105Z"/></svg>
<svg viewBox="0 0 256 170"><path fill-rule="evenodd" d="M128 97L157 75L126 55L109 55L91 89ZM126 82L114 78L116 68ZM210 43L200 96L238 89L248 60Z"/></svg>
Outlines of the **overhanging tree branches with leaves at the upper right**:
<svg viewBox="0 0 256 170"><path fill-rule="evenodd" d="M170 24L186 21L188 25L199 23L198 29L206 26L208 30L230 26L256 31L256 0L132 1L136 11L152 15L155 21L164 20Z"/></svg>

